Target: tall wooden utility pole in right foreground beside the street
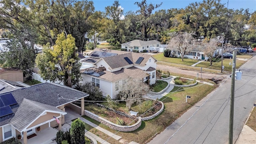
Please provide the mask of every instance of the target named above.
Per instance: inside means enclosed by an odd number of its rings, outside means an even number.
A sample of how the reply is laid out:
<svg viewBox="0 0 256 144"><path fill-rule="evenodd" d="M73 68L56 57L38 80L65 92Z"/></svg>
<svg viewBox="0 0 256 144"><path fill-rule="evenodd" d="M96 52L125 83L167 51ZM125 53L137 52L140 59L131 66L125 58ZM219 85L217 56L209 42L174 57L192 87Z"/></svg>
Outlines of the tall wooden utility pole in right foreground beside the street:
<svg viewBox="0 0 256 144"><path fill-rule="evenodd" d="M234 49L234 51L233 51L233 64L232 64L232 74L231 74L231 95L230 95L230 115L229 115L228 144L233 144L235 76L236 76L236 49Z"/></svg>

